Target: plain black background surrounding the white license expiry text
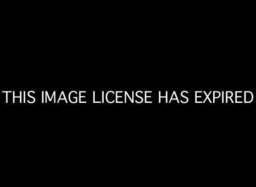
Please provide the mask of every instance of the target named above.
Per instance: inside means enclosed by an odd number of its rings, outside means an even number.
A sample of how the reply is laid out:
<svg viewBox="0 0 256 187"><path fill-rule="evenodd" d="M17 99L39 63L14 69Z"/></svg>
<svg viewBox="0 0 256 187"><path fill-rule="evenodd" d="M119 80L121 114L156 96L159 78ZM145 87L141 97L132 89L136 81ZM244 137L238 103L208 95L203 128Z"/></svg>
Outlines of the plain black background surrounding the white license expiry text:
<svg viewBox="0 0 256 187"><path fill-rule="evenodd" d="M1 91L152 90L154 104L2 102L5 176L131 184L250 178L255 101L196 105L193 96L255 94L247 7L42 7L3 13ZM183 90L187 105L157 104L157 91Z"/></svg>

